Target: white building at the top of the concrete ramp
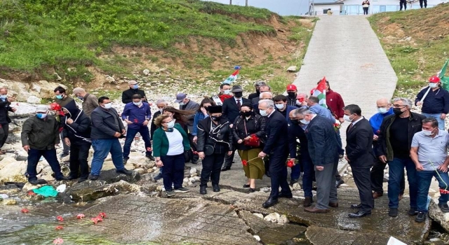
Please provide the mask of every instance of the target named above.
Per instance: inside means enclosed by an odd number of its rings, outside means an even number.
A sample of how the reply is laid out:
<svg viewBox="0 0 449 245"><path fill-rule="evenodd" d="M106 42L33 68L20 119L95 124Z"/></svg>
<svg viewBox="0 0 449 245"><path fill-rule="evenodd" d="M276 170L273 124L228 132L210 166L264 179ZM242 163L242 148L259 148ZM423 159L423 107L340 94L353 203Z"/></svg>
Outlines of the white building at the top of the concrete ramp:
<svg viewBox="0 0 449 245"><path fill-rule="evenodd" d="M326 15L328 9L333 15L363 15L363 0L309 0L309 15ZM427 8L448 0L427 0ZM407 10L420 7L419 0L407 0ZM313 11L314 10L314 11ZM399 0L370 0L368 13L382 13L399 10Z"/></svg>

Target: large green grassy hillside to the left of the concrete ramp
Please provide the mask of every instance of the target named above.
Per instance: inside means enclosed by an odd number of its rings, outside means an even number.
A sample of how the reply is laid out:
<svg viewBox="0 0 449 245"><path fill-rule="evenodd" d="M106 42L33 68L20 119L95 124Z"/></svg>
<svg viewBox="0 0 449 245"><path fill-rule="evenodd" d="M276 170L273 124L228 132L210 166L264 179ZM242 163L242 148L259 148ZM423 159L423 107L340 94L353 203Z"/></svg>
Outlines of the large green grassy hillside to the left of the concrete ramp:
<svg viewBox="0 0 449 245"><path fill-rule="evenodd" d="M288 83L300 66L311 20L199 0L0 1L0 76L98 86L105 75L142 69Z"/></svg>

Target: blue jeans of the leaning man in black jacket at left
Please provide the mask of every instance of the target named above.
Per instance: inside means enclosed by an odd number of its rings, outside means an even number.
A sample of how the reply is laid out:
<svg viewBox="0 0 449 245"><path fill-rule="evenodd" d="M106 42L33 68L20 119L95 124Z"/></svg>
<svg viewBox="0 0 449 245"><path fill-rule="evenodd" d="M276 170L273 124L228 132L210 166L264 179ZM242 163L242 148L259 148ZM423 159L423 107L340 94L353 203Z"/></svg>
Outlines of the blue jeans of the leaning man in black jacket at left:
<svg viewBox="0 0 449 245"><path fill-rule="evenodd" d="M112 162L117 170L125 169L119 139L93 139L92 147L91 175L100 175L103 162L105 162L108 153L111 153Z"/></svg>

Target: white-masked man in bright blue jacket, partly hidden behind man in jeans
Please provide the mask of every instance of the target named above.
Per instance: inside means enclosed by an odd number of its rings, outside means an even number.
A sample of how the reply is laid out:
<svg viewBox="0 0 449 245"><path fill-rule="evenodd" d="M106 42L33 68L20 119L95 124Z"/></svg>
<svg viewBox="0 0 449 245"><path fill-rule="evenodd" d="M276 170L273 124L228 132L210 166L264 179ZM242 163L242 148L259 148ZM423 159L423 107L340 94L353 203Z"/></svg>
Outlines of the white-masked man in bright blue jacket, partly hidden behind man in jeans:
<svg viewBox="0 0 449 245"><path fill-rule="evenodd" d="M370 118L370 125L373 129L373 151L375 155L377 148L377 139L379 138L380 133L380 125L385 117L390 116L393 113L393 107L391 107L391 103L389 99L382 98L377 99L377 113ZM384 181L384 169L387 166L387 163L380 161L378 158L375 158L373 168L371 169L370 179L371 179L371 189L373 190L373 198L376 199L378 197L382 197L384 195L383 181ZM404 193L404 189L406 186L405 178L401 179L401 192L400 198Z"/></svg>

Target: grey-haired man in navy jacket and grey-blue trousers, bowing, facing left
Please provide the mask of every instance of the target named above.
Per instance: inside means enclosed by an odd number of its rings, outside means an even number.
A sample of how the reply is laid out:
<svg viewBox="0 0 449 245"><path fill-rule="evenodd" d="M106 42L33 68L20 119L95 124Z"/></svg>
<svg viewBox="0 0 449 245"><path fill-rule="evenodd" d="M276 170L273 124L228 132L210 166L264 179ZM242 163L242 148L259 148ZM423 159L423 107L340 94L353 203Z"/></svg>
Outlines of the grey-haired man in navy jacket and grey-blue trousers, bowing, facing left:
<svg viewBox="0 0 449 245"><path fill-rule="evenodd" d="M316 205L307 207L309 213L327 213L329 207L338 207L335 173L338 165L339 146L333 123L328 118L317 116L307 108L298 109L303 116L300 123L307 125L306 137L309 155L315 167Z"/></svg>

